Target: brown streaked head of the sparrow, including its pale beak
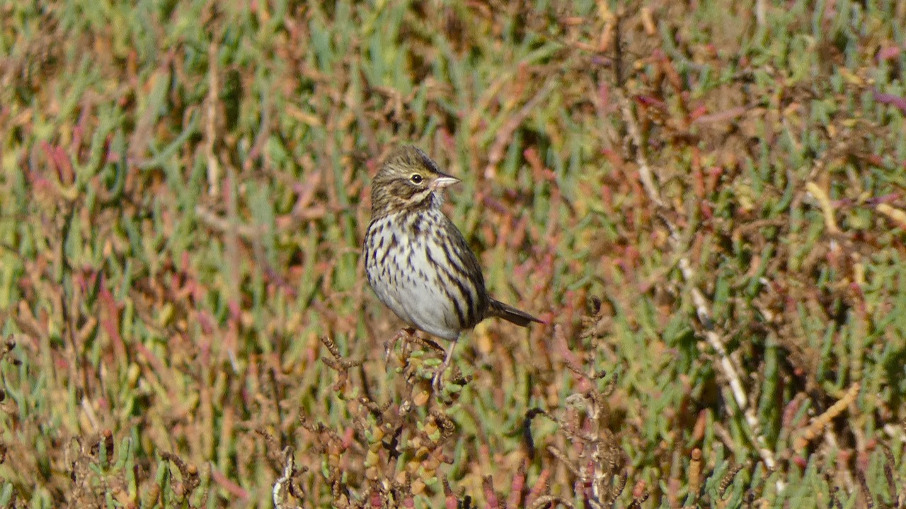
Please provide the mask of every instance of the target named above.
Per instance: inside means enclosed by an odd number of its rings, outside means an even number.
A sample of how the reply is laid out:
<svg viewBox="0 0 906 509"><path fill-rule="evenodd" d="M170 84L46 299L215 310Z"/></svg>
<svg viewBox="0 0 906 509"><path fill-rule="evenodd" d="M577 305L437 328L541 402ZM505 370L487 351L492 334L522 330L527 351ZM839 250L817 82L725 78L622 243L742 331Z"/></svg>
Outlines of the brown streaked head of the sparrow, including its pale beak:
<svg viewBox="0 0 906 509"><path fill-rule="evenodd" d="M394 149L371 182L371 219L440 206L444 187L457 182L420 149L411 145Z"/></svg>

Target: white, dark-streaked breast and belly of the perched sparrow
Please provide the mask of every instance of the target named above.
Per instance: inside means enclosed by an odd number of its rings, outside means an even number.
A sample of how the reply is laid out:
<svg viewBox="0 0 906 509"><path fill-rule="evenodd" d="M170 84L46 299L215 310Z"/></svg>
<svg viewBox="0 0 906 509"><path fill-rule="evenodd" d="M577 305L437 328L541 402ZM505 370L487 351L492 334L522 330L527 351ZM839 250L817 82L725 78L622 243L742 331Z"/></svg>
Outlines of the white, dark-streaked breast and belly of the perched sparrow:
<svg viewBox="0 0 906 509"><path fill-rule="evenodd" d="M384 242L365 267L371 288L381 302L404 322L446 340L455 340L460 320L455 303L439 282L427 251L396 232L395 243ZM390 249L390 253L385 253Z"/></svg>

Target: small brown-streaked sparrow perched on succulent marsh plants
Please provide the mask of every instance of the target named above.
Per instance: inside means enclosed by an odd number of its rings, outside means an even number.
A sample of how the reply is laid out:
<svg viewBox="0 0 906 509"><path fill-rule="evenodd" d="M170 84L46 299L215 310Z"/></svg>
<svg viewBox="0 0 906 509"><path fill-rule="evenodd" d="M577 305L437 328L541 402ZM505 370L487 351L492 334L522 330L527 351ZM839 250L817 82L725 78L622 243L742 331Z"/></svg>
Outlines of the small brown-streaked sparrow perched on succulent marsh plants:
<svg viewBox="0 0 906 509"><path fill-rule="evenodd" d="M463 331L490 317L522 327L543 323L487 293L475 254L440 209L444 190L459 182L421 149L393 149L371 182L371 222L362 245L368 283L407 323L404 330L452 341L435 388Z"/></svg>

